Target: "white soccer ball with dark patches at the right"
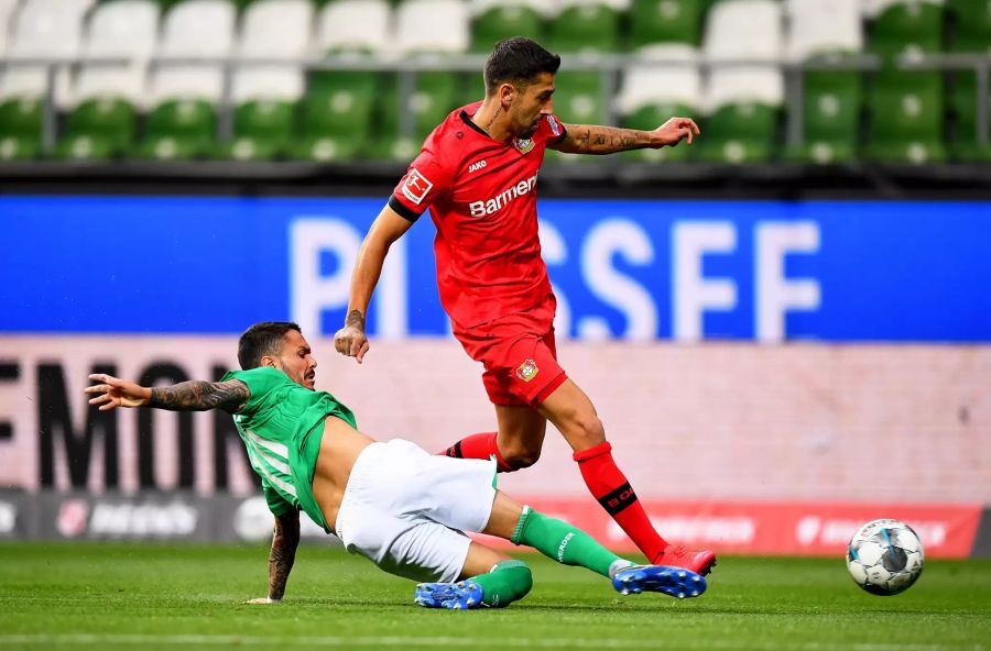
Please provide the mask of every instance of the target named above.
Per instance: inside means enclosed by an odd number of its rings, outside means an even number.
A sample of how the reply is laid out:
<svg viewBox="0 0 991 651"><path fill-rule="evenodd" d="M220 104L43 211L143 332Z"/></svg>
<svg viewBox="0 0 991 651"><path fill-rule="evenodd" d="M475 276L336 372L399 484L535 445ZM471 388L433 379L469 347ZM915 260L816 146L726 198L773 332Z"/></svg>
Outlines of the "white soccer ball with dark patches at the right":
<svg viewBox="0 0 991 651"><path fill-rule="evenodd" d="M900 520L868 522L847 548L847 570L857 585L885 597L912 587L922 574L924 560L918 536Z"/></svg>

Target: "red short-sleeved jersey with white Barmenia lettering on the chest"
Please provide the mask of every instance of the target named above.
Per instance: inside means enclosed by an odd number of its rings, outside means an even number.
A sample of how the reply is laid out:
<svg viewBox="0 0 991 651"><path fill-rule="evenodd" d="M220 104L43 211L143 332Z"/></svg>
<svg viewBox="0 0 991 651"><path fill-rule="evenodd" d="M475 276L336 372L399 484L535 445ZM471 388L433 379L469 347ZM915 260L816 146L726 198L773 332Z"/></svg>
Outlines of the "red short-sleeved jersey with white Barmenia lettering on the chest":
<svg viewBox="0 0 991 651"><path fill-rule="evenodd" d="M551 293L536 178L547 143L566 136L546 115L527 140L492 140L470 120L479 107L454 111L427 136L389 199L411 221L431 209L440 302L462 328L525 310Z"/></svg>

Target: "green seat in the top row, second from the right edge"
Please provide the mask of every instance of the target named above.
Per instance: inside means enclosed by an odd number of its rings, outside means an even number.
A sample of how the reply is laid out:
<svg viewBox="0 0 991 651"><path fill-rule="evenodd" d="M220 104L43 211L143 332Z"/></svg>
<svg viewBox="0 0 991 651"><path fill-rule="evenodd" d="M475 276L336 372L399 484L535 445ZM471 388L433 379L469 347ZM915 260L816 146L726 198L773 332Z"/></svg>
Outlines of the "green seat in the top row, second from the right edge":
<svg viewBox="0 0 991 651"><path fill-rule="evenodd" d="M871 23L868 49L889 59L941 52L943 22L944 9L937 4L908 0L893 4Z"/></svg>

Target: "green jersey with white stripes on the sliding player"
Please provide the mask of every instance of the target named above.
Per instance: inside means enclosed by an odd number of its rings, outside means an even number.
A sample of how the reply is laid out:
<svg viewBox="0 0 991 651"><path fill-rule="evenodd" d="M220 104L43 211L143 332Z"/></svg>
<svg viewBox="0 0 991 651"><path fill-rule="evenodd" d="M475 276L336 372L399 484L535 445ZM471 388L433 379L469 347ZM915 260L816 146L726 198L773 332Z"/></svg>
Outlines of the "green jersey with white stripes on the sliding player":
<svg viewBox="0 0 991 651"><path fill-rule="evenodd" d="M302 508L326 530L312 490L324 419L336 416L357 428L355 415L327 391L301 386L271 366L230 371L221 382L229 379L243 382L251 391L233 421L251 467L262 478L269 509L282 516Z"/></svg>

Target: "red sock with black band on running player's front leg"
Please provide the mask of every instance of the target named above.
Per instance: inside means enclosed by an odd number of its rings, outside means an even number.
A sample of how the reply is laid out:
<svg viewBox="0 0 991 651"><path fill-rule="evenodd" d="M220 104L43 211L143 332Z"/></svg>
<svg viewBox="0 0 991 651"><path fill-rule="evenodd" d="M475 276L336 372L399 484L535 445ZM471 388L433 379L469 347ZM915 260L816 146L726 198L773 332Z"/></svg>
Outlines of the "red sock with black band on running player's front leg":
<svg viewBox="0 0 991 651"><path fill-rule="evenodd" d="M612 461L611 451L612 445L605 441L576 452L574 459L592 496L653 563L667 547L667 541L654 530L630 482Z"/></svg>

